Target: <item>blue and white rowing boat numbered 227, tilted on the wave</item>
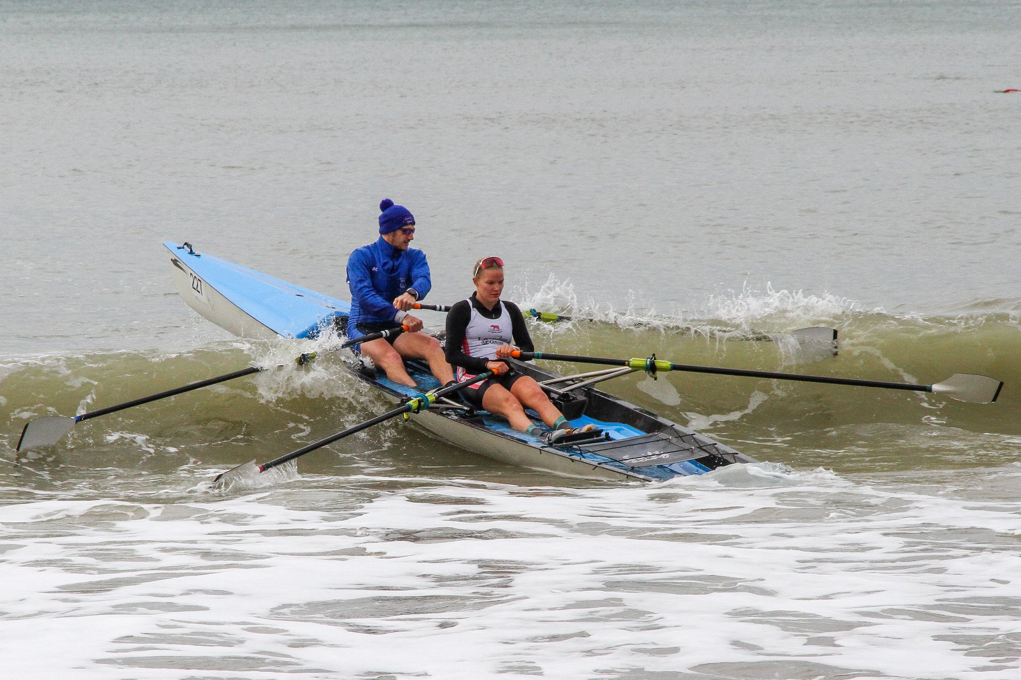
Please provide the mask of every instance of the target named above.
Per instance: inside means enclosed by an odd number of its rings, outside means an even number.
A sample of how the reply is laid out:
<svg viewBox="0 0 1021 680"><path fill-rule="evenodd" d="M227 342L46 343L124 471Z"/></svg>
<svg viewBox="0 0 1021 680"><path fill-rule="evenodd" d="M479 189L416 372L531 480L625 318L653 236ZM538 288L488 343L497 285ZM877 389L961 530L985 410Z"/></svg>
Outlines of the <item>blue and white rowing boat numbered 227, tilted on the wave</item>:
<svg viewBox="0 0 1021 680"><path fill-rule="evenodd" d="M174 281L184 301L221 328L249 338L315 338L346 327L350 303L295 286L240 264L199 253L188 244L165 242ZM529 362L512 361L549 393L573 428L590 433L551 446L514 430L502 418L473 410L459 401L438 400L410 417L435 436L468 451L525 468L596 479L667 480L700 475L739 463L755 463L634 404L594 388L634 369L614 368L560 376ZM406 401L439 386L426 366L408 361L418 388L405 387L352 357L349 369L389 397ZM538 423L534 414L530 416Z"/></svg>

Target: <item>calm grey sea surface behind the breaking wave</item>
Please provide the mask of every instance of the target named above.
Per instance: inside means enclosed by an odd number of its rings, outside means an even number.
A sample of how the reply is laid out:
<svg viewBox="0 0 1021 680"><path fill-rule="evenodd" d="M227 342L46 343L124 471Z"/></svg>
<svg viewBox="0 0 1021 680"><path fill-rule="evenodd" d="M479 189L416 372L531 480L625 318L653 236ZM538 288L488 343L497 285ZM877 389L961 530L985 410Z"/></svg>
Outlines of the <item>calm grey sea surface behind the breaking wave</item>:
<svg viewBox="0 0 1021 680"><path fill-rule="evenodd" d="M1017 9L4 3L0 338L181 340L166 239L345 293L384 197L437 299L497 251L617 308L1016 308Z"/></svg>

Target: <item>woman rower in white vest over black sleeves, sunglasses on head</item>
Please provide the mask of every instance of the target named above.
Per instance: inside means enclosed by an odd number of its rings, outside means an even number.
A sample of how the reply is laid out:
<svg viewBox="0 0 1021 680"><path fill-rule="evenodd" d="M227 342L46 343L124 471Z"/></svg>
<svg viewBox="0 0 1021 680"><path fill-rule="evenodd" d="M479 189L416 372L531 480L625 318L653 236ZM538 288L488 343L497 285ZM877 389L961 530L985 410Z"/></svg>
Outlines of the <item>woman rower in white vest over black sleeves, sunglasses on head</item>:
<svg viewBox="0 0 1021 680"><path fill-rule="evenodd" d="M450 307L446 326L446 359L455 368L458 381L484 371L498 374L461 390L461 396L476 408L507 419L522 432L555 443L571 433L571 424L552 404L534 379L512 369L506 361L514 347L535 350L525 326L525 318L514 302L500 300L503 292L503 260L482 257L472 271L475 292ZM531 408L550 431L532 423L525 415Z"/></svg>

